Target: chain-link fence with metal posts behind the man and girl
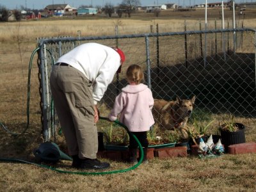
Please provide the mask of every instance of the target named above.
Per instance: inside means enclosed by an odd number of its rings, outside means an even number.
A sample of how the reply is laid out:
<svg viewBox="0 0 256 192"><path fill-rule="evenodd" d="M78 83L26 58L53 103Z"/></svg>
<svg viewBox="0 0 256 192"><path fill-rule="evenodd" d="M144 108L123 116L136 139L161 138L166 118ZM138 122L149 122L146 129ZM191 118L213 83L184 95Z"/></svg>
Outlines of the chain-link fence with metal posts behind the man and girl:
<svg viewBox="0 0 256 192"><path fill-rule="evenodd" d="M255 117L255 29L215 29L140 35L58 37L38 39L38 67L44 139L55 136L58 121L49 87L51 67L79 44L97 42L120 47L126 56L122 73L100 101L100 116L108 115L116 95L127 84L131 64L145 70L155 99L191 99L194 115L232 113Z"/></svg>

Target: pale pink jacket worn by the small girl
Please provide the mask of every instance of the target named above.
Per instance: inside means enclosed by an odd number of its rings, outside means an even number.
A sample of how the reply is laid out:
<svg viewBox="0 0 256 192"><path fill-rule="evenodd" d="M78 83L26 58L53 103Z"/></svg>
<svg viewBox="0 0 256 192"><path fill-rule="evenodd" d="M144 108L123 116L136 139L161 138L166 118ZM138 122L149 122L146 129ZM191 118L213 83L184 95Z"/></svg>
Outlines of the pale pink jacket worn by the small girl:
<svg viewBox="0 0 256 192"><path fill-rule="evenodd" d="M145 84L127 85L116 97L115 104L108 118L120 122L131 132L148 131L155 123L152 115L154 99L151 90Z"/></svg>

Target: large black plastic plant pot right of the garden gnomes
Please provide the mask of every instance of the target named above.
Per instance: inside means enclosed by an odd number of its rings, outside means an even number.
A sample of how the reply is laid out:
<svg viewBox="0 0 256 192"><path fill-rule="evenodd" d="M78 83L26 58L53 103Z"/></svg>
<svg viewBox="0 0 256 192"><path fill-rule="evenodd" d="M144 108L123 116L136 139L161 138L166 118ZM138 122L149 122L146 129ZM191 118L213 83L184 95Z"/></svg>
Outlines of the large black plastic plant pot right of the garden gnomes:
<svg viewBox="0 0 256 192"><path fill-rule="evenodd" d="M243 124L236 123L238 127L237 131L223 131L220 127L220 135L221 135L221 143L225 146L225 150L227 151L229 145L245 143L245 127Z"/></svg>

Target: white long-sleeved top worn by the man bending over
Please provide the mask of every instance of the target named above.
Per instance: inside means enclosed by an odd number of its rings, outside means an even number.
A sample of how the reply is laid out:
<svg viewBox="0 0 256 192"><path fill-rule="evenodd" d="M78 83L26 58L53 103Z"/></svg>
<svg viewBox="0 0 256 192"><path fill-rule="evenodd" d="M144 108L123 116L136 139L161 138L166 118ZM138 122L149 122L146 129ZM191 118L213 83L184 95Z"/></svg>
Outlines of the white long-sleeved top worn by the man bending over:
<svg viewBox="0 0 256 192"><path fill-rule="evenodd" d="M81 71L93 83L93 100L102 99L120 67L120 56L111 47L97 43L82 44L61 56L57 63L67 63Z"/></svg>

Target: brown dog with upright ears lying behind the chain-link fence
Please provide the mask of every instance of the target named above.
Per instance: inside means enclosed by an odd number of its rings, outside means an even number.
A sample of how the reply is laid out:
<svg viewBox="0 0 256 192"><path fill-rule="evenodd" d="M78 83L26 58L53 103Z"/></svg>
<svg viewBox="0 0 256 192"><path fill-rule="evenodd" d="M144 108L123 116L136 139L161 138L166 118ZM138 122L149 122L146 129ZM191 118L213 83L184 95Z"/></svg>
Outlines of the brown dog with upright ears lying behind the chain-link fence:
<svg viewBox="0 0 256 192"><path fill-rule="evenodd" d="M163 99L155 99L152 109L156 123L161 129L174 130L180 132L182 138L188 138L186 124L188 118L193 111L196 97L189 99L179 99L175 101L166 101Z"/></svg>

